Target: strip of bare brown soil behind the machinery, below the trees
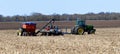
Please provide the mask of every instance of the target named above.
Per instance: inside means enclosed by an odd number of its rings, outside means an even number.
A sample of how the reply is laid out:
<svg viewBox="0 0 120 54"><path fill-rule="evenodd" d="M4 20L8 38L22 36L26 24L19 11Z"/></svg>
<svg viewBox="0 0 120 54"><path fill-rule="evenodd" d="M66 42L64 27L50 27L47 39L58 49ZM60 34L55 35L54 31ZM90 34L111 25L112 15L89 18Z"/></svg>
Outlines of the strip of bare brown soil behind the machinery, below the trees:
<svg viewBox="0 0 120 54"><path fill-rule="evenodd" d="M37 29L43 27L47 22L36 22ZM113 28L120 27L120 20L87 20L87 24L94 25L96 28ZM18 29L21 22L0 22L0 29ZM60 28L72 28L75 25L75 21L60 21L56 22Z"/></svg>

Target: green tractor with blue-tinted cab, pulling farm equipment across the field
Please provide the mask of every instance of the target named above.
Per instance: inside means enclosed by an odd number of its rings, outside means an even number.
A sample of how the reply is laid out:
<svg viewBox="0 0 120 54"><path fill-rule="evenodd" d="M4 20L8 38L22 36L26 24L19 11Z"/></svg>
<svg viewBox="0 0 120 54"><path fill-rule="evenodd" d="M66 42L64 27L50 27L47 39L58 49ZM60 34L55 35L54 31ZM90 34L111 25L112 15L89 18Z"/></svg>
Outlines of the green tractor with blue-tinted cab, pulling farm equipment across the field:
<svg viewBox="0 0 120 54"><path fill-rule="evenodd" d="M76 25L71 29L72 34L83 35L85 32L88 34L95 34L96 29L93 25L86 25L84 20L77 20Z"/></svg>

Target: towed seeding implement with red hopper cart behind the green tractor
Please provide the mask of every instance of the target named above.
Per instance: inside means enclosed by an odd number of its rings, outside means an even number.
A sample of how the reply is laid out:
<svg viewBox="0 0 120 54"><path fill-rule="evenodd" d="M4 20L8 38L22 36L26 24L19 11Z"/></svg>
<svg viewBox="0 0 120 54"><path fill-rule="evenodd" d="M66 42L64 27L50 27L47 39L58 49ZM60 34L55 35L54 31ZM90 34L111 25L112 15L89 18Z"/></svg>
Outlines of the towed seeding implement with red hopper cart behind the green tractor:
<svg viewBox="0 0 120 54"><path fill-rule="evenodd" d="M45 24L40 30L36 31L36 23L34 22L24 22L21 28L18 30L17 35L19 36L36 36L38 33L45 36L51 35L63 35L62 30L58 26L54 26L55 19L51 19L47 24Z"/></svg>

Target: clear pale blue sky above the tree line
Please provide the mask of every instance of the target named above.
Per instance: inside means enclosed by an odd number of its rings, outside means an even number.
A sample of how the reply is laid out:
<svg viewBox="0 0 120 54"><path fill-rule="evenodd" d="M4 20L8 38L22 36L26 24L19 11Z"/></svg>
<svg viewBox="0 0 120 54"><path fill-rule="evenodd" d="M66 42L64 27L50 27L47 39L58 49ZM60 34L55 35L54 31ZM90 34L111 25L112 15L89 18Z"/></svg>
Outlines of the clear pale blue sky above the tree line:
<svg viewBox="0 0 120 54"><path fill-rule="evenodd" d="M120 12L120 0L1 0L0 15Z"/></svg>

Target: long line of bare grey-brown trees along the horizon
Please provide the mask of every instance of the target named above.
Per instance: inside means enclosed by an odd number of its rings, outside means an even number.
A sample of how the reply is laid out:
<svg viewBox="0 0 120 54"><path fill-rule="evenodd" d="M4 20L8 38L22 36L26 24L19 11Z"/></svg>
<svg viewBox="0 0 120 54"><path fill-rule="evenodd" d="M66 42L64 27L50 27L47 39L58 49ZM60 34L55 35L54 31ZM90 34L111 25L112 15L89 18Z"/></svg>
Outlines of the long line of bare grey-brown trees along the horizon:
<svg viewBox="0 0 120 54"><path fill-rule="evenodd" d="M73 21L77 19L81 20L120 20L120 13L115 12L100 12L100 13L87 13L87 14L51 14L44 15L41 13L32 13L29 16L3 16L0 15L0 22L25 22L25 21L48 21L50 19L56 19L56 21Z"/></svg>

